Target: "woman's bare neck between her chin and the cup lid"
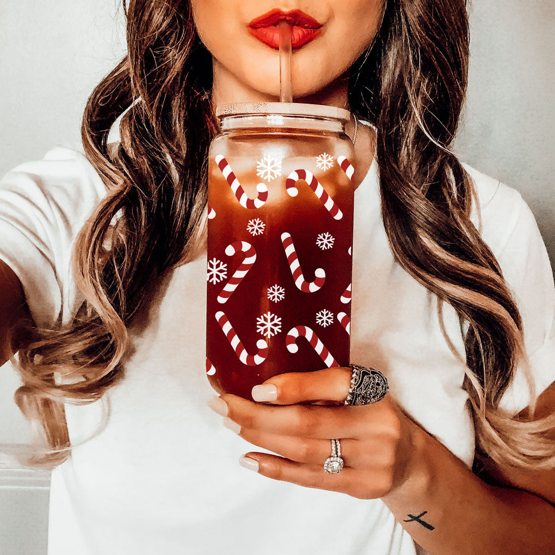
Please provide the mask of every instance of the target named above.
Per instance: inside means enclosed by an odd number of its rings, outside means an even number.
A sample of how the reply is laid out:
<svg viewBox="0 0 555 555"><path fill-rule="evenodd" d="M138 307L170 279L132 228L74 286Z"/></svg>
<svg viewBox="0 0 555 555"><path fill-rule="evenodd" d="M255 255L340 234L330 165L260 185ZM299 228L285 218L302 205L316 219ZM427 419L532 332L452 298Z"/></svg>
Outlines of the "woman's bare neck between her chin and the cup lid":
<svg viewBox="0 0 555 555"><path fill-rule="evenodd" d="M279 97L262 93L239 81L218 60L213 59L213 68L212 103L214 107L220 104L240 102L279 102ZM350 110L349 97L347 95L348 82L349 72L346 72L315 93L307 94L303 97L295 97L294 102L323 104ZM347 135L352 137L355 131L354 119L351 118L345 130Z"/></svg>

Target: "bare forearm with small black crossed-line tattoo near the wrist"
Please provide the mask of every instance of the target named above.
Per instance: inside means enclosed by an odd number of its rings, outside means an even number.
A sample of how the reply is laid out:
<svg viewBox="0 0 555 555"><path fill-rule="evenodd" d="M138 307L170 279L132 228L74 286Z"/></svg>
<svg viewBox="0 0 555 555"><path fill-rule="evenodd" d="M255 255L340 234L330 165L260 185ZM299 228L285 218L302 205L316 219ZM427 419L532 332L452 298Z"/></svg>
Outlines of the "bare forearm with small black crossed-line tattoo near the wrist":
<svg viewBox="0 0 555 555"><path fill-rule="evenodd" d="M538 398L536 416L553 412L554 402L555 383ZM413 479L384 501L423 548L433 555L555 553L555 469L497 468L493 485L416 428Z"/></svg>

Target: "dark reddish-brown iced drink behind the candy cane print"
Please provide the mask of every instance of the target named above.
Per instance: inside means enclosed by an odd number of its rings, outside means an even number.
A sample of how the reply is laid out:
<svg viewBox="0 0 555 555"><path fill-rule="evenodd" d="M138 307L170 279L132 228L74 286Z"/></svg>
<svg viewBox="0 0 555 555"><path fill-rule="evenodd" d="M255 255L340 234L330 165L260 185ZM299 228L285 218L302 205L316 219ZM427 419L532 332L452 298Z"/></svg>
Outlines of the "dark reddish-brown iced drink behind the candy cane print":
<svg viewBox="0 0 555 555"><path fill-rule="evenodd" d="M316 157L327 153L333 166L319 169ZM215 162L223 155L245 193L254 199L256 185L268 187L268 199L260 208L241 206L228 181ZM268 181L256 174L257 161L268 155L282 157L281 175ZM334 357L337 365L349 365L349 335L341 325L338 314L344 312L350 319L351 304L342 302L341 296L351 283L352 212L354 186L337 163L343 155L352 162L352 144L346 135L316 133L237 133L216 138L209 154L209 199L215 217L208 221L208 260L226 264L225 278L209 272L207 283L206 356L214 366L209 372L210 384L219 393L234 393L251 398L251 388L269 377L285 372L303 372L326 368L322 357L305 337L296 340L298 350L287 350L287 333L296 326L307 326L316 334ZM286 178L291 171L306 169L320 181L327 194L339 206L342 218L337 220L325 208L306 181L297 182L298 194L286 191ZM263 233L250 233L252 221L264 224ZM251 222L251 224L249 224ZM254 230L253 230L254 231ZM300 269L307 282L315 280L315 270L325 271L325 282L315 292L301 291L296 285L287 261L282 233L289 233L295 246ZM322 234L333 238L331 248L322 243ZM320 244L317 240L320 236ZM238 250L233 256L225 254L226 247L235 241L246 241L254 247L256 260L226 302L218 301L225 284L243 263L245 253ZM220 279L221 278L221 279ZM278 286L274 299L268 298L268 289ZM280 292L284 298L278 300ZM332 321L317 322L316 315L327 310ZM263 339L268 345L265 360L249 365L241 362L230 340L216 319L224 312L241 344L249 355L259 348ZM275 321L276 327L257 329L261 317ZM279 320L276 321L274 317ZM231 337L231 332L228 335ZM314 341L314 340L313 340ZM325 355L325 352L324 352ZM327 360L329 362L330 359Z"/></svg>

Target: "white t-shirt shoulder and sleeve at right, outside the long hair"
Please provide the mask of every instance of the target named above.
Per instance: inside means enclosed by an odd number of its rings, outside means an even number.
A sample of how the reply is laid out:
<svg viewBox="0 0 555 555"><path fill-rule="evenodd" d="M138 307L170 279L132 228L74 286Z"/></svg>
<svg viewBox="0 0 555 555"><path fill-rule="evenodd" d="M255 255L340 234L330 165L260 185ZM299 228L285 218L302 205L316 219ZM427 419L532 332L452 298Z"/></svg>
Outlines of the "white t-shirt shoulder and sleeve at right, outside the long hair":
<svg viewBox="0 0 555 555"><path fill-rule="evenodd" d="M555 286L546 245L536 218L517 190L465 164L476 184L472 221L495 254L521 313L524 345L536 395L555 381ZM513 415L530 404L522 365L499 406Z"/></svg>

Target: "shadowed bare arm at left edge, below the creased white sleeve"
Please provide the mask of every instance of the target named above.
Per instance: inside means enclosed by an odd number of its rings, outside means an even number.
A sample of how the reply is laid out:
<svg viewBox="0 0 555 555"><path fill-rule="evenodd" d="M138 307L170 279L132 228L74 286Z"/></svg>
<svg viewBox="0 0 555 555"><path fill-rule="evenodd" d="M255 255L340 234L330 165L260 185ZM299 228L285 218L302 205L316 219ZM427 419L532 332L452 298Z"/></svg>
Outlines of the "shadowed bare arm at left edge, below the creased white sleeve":
<svg viewBox="0 0 555 555"><path fill-rule="evenodd" d="M14 352L7 345L9 330L13 325L24 320L31 320L21 282L2 260L0 260L0 365L4 364ZM15 338L16 345L21 345L24 338Z"/></svg>

